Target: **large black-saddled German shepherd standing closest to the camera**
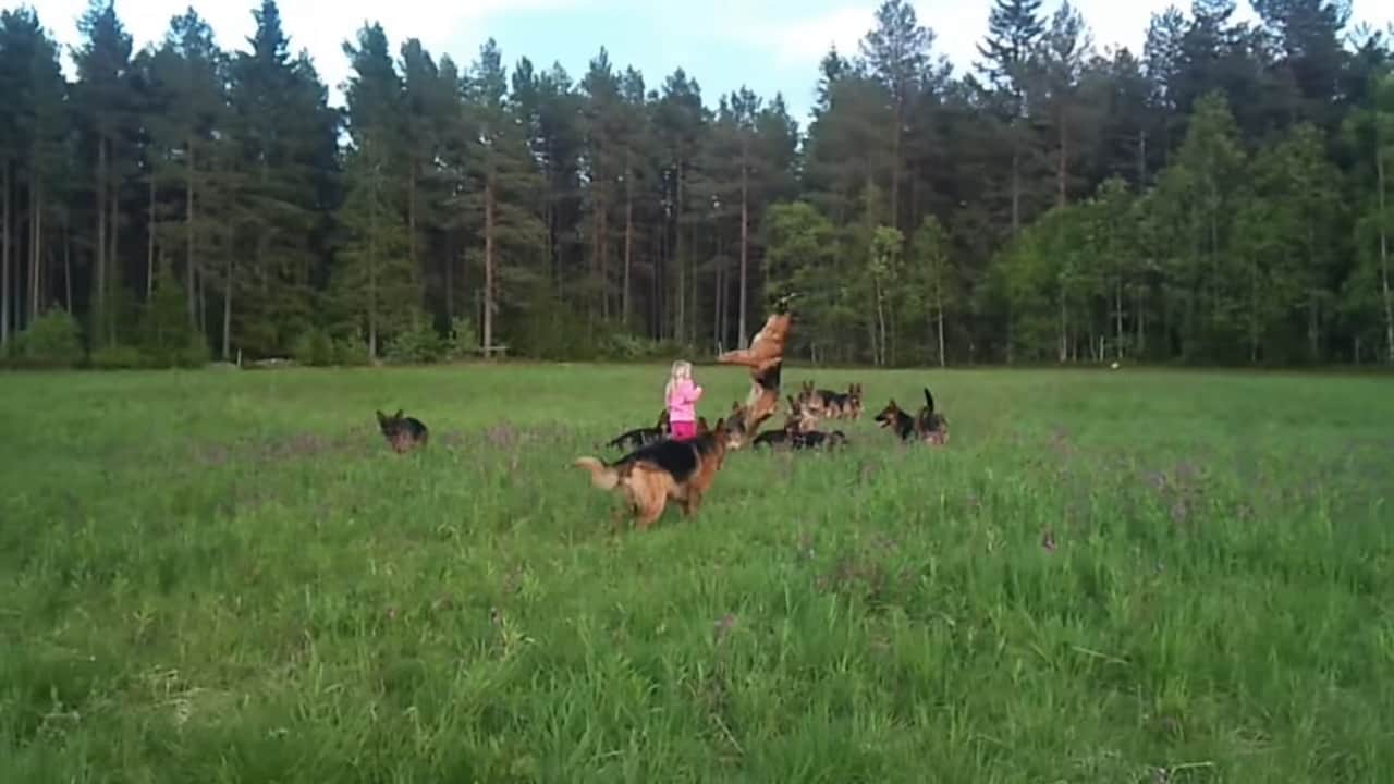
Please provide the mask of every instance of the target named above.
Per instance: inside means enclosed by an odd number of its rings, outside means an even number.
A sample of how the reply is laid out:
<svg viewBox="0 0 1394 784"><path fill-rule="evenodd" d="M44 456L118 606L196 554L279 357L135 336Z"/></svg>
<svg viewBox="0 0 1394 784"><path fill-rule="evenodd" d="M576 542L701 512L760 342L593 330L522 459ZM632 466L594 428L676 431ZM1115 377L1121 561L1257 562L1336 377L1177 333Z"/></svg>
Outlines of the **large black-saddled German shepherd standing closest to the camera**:
<svg viewBox="0 0 1394 784"><path fill-rule="evenodd" d="M648 444L613 463L579 458L573 465L590 472L591 484L599 490L619 487L636 523L647 529L664 513L668 501L676 501L683 515L697 512L736 438L739 434L726 420L717 420L717 427L698 427L698 434L686 441Z"/></svg>

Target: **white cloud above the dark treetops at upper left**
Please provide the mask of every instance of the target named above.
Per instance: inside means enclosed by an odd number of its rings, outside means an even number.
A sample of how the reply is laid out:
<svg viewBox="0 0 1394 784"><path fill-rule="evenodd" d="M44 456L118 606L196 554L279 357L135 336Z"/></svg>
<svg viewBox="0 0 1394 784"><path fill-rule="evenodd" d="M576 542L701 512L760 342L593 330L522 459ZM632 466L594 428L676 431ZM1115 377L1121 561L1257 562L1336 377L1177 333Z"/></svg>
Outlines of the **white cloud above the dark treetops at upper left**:
<svg viewBox="0 0 1394 784"><path fill-rule="evenodd" d="M484 22L503 13L537 11L573 4L577 0L396 0L388 6L374 0L282 0L279 3L282 28L290 38L293 53L309 52L319 77L329 85L330 102L339 102L339 85L348 75L348 59L343 43L354 40L364 22L379 21L396 57L397 47L408 38L435 53L449 53L468 63L477 54L477 42L484 40ZM81 43L78 17L86 10L86 0L43 0L39 15L49 32L64 50ZM118 0L116 11L131 33L135 49L159 42L169 29L171 17L184 14L190 0ZM258 0L217 0L195 3L195 10L213 28L223 49L247 49L247 39L255 32L252 8ZM475 42L468 50L457 50L464 40ZM64 57L64 70L72 75L71 61ZM461 64L463 64L461 63Z"/></svg>

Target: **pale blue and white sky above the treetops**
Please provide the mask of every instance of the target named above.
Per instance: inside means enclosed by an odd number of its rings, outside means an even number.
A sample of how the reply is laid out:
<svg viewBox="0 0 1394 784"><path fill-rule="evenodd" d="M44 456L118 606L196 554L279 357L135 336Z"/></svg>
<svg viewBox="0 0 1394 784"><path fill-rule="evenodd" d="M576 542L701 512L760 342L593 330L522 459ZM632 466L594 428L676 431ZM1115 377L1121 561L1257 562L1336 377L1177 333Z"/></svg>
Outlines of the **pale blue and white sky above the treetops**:
<svg viewBox="0 0 1394 784"><path fill-rule="evenodd" d="M77 20L86 0L28 0L40 21L67 49L77 46ZM1153 13L1189 0L1075 0L1098 50L1128 46L1142 52ZM10 3L13 6L13 3ZM190 0L116 0L116 10L137 49L163 38L171 17ZM195 0L224 49L244 49L255 22L256 0ZM461 67L493 38L505 64L527 56L538 68L559 61L579 80L601 46L619 68L634 66L650 88L682 67L715 105L722 93L749 86L758 95L782 93L804 126L814 100L818 60L836 45L843 54L873 27L880 0L280 0L282 24L291 50L307 49L330 102L342 103L348 60L343 43L364 22L378 21L393 50L408 38L436 57L450 54ZM935 54L947 56L956 73L979 60L977 43L987 32L991 0L913 0L920 24L934 31ZM1043 10L1054 11L1057 0ZM1241 15L1252 18L1241 1ZM1394 3L1352 0L1355 22L1377 29L1394 22ZM72 75L71 61L64 70Z"/></svg>

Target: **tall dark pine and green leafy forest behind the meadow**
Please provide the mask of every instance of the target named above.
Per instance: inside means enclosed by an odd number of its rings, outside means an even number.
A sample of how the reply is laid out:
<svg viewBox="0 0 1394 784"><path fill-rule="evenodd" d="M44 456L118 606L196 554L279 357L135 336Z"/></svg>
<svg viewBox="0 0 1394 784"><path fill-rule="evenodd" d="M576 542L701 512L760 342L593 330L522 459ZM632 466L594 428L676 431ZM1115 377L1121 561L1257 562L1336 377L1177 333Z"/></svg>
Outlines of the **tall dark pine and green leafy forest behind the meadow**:
<svg viewBox="0 0 1394 784"><path fill-rule="evenodd" d="M46 25L72 21L20 7L0 345L705 359L797 292L790 352L825 364L1394 363L1394 36L1340 0L1253 11L1172 7L1131 52L1068 0L995 0L962 71L885 0L809 74L800 127L601 42L573 75L378 24L344 42L337 107L272 0L240 47L190 8L139 50L93 0L70 81Z"/></svg>

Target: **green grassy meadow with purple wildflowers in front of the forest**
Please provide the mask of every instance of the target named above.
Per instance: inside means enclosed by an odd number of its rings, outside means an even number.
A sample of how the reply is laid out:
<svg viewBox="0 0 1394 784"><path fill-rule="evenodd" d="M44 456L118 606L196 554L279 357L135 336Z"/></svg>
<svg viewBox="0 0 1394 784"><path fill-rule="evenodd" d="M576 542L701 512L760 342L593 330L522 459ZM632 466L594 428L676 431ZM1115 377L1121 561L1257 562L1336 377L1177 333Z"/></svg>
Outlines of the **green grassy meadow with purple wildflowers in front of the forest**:
<svg viewBox="0 0 1394 784"><path fill-rule="evenodd" d="M665 374L0 377L0 781L1394 769L1388 379L795 365L866 385L850 448L629 532L570 462ZM870 421L926 382L940 451Z"/></svg>

